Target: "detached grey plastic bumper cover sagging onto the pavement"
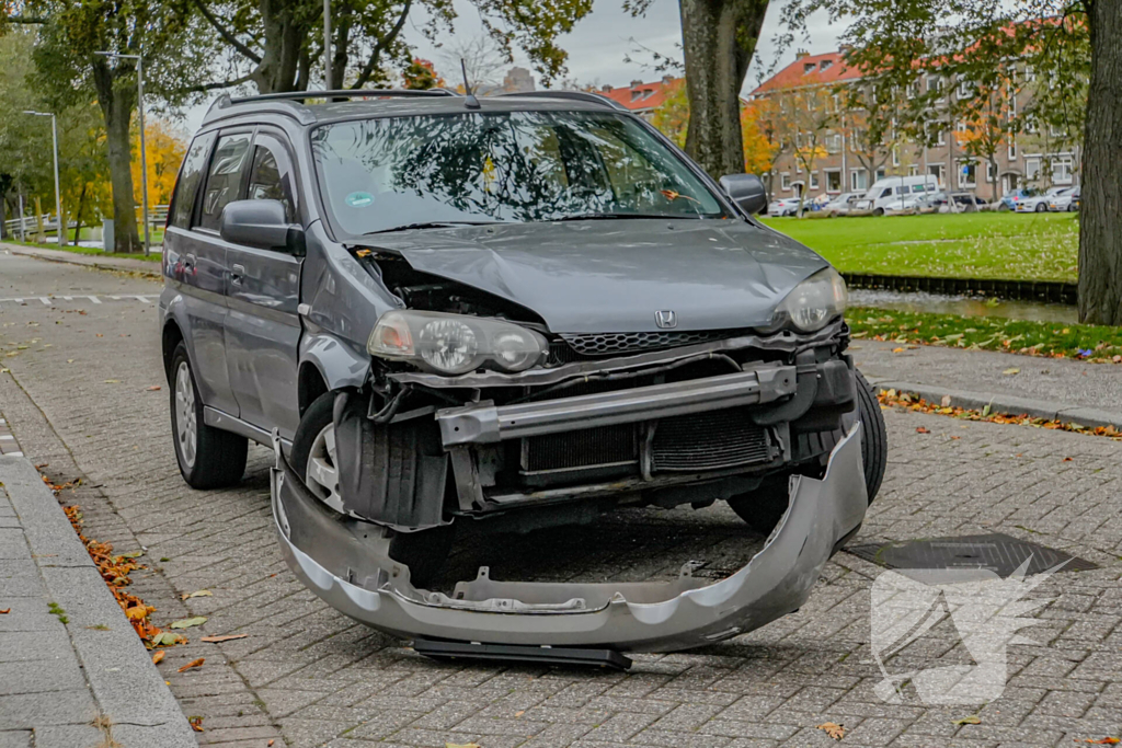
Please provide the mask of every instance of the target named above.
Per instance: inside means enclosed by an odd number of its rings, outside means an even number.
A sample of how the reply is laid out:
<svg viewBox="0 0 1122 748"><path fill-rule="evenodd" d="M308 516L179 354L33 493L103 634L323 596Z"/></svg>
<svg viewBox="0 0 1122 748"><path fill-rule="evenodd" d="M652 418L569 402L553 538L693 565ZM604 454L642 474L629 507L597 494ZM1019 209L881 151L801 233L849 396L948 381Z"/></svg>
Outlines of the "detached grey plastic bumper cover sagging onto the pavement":
<svg viewBox="0 0 1122 748"><path fill-rule="evenodd" d="M724 580L709 583L683 567L669 582L496 582L481 569L448 597L414 588L408 569L386 553L388 535L324 507L275 445L273 511L289 569L337 610L403 638L620 652L673 652L729 638L800 608L868 505L858 423L835 446L821 480L792 477L779 526Z"/></svg>

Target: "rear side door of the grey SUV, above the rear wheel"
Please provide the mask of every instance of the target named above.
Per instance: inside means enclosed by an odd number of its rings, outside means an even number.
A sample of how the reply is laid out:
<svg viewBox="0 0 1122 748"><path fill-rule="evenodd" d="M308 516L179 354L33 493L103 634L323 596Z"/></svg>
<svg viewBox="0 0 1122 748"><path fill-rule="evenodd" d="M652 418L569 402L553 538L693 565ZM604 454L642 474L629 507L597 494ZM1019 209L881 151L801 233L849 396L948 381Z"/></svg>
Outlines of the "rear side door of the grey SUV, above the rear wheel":
<svg viewBox="0 0 1122 748"><path fill-rule="evenodd" d="M164 275L180 292L194 369L195 386L205 405L237 413L226 362L226 249L204 228L201 211L221 184L237 175L249 135L195 137L184 158L164 236ZM215 140L218 145L215 146ZM237 176L234 176L234 179Z"/></svg>

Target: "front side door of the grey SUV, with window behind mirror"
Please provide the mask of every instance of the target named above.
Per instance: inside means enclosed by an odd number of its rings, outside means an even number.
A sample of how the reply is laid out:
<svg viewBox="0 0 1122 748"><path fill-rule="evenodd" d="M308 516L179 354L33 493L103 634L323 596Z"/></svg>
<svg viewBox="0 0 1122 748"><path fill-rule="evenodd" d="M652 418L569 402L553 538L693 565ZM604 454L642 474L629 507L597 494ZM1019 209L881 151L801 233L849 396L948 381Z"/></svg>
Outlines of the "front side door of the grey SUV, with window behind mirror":
<svg viewBox="0 0 1122 748"><path fill-rule="evenodd" d="M261 128L254 139L246 200L277 200L300 222L296 175L287 138ZM229 244L227 366L242 421L292 438L300 423L296 395L302 259L280 249Z"/></svg>

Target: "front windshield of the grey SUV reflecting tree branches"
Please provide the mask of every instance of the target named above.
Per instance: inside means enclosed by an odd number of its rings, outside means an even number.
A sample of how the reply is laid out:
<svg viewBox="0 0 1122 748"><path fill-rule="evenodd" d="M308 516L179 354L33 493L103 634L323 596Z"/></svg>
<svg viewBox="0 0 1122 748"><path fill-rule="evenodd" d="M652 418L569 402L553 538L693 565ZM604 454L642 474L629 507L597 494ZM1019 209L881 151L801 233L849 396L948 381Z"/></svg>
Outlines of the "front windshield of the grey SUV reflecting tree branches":
<svg viewBox="0 0 1122 748"><path fill-rule="evenodd" d="M609 112L378 118L312 132L323 196L350 236L432 223L719 218L653 135Z"/></svg>

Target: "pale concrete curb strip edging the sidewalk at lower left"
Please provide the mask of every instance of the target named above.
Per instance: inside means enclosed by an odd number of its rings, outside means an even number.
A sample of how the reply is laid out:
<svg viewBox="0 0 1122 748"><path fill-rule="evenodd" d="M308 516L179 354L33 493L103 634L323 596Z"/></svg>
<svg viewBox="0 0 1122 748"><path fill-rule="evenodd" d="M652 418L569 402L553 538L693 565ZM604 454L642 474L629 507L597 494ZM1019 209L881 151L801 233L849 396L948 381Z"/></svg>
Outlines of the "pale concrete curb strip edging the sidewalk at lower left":
<svg viewBox="0 0 1122 748"><path fill-rule="evenodd" d="M38 471L26 458L0 455L0 482L52 599L66 611L66 632L113 738L126 748L194 748L171 689Z"/></svg>

